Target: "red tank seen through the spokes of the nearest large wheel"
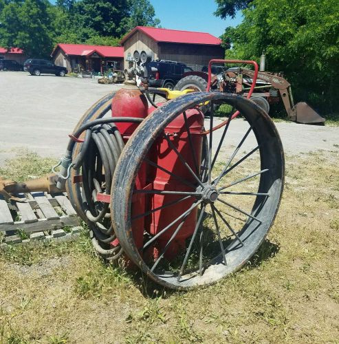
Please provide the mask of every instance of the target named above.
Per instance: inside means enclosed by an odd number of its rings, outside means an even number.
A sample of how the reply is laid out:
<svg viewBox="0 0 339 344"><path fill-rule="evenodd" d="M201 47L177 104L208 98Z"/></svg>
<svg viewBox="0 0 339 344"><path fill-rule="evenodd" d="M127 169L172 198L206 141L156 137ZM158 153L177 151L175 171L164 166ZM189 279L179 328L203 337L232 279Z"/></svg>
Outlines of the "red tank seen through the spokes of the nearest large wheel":
<svg viewBox="0 0 339 344"><path fill-rule="evenodd" d="M197 109L190 109L186 111L186 118L188 122L188 127L190 129L190 136L192 139L194 151L195 151L195 161L197 166L201 164L201 149L202 149L202 136L201 131L204 129L204 115L201 111ZM165 129L165 133L168 136L169 140L174 144L177 151L181 153L188 162L190 168L199 175L199 171L196 171L195 162L193 158L193 151L190 147L188 140L188 133L186 131L186 125L184 116L181 114L173 120L170 125ZM151 147L149 158L156 164L162 166L164 169L173 172L175 175L179 175L182 179L190 182L191 184L196 185L197 182L194 179L193 175L188 171L187 167L179 160L177 153L169 146L165 138L157 139ZM189 191L195 192L190 186L180 182L177 178L169 175L168 173L162 171L162 169L151 168L148 172L147 182L153 184L153 189L155 190L166 190L166 191ZM184 195L149 195L149 203L147 208L154 209L174 202L185 197ZM166 226L171 224L173 220L186 209L188 209L193 202L195 197L188 197L187 200L183 200L175 205L168 206L167 208L161 209L149 215L146 218L145 225L146 231L151 235L156 235L160 230L164 229ZM171 239L171 236L175 232L177 226L182 220L179 220L177 223L173 224L171 228L168 228L166 232L160 235L159 239L156 241L156 244L153 246L153 255L155 258L162 252L164 246L168 243L168 240ZM197 208L195 208L180 228L179 232L173 239L172 244L168 247L165 253L165 257L169 260L174 259L180 250L183 250L186 246L186 239L193 235L195 229L195 224L197 222Z"/></svg>

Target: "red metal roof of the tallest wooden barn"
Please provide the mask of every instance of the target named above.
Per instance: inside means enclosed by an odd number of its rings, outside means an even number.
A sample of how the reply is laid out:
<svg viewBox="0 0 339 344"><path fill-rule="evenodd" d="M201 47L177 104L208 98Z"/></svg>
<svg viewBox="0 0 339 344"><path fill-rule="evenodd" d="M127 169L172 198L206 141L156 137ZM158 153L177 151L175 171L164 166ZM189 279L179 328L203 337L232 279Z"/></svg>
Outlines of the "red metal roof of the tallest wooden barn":
<svg viewBox="0 0 339 344"><path fill-rule="evenodd" d="M123 44L136 31L143 32L156 42L221 45L220 39L212 34L208 34L207 32L168 30L149 28L146 26L136 26L131 32L122 38L120 43Z"/></svg>

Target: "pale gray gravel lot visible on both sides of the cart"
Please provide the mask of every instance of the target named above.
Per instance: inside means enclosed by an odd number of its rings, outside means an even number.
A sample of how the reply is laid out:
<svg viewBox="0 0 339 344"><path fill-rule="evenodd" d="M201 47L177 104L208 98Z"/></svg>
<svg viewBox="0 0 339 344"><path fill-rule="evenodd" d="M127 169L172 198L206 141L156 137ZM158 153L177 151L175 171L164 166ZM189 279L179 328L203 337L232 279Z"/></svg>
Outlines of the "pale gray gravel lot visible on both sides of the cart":
<svg viewBox="0 0 339 344"><path fill-rule="evenodd" d="M90 78L0 72L0 165L22 149L36 151L43 156L61 157L67 144L67 134L80 116L96 100L119 87L100 85ZM276 127L286 153L338 149L339 127L292 122L278 122ZM245 122L234 120L230 132L234 144L244 130ZM251 144L249 141L248 147Z"/></svg>

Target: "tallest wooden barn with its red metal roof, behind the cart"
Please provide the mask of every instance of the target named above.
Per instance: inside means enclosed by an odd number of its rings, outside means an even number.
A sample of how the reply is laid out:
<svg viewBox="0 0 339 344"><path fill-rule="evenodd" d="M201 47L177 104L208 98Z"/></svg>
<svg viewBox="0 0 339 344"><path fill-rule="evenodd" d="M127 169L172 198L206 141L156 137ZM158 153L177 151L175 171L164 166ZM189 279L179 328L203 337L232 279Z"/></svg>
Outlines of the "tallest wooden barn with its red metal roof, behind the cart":
<svg viewBox="0 0 339 344"><path fill-rule="evenodd" d="M137 26L120 42L124 47L124 67L135 50L153 52L154 59L186 63L195 70L212 58L224 58L221 40L206 32L191 32Z"/></svg>

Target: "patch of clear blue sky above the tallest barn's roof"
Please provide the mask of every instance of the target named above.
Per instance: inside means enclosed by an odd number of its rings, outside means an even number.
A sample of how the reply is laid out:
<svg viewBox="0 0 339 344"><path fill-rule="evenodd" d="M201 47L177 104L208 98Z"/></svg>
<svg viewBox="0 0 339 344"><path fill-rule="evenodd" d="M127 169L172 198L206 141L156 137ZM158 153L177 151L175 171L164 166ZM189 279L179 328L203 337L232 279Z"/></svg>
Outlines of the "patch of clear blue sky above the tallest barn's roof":
<svg viewBox="0 0 339 344"><path fill-rule="evenodd" d="M240 12L234 19L215 17L215 0L150 1L155 9L155 17L160 19L162 28L166 29L209 32L220 36L227 26L235 26L241 22Z"/></svg>

